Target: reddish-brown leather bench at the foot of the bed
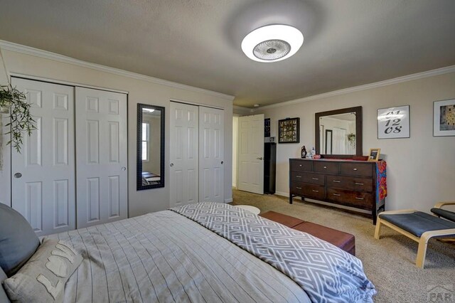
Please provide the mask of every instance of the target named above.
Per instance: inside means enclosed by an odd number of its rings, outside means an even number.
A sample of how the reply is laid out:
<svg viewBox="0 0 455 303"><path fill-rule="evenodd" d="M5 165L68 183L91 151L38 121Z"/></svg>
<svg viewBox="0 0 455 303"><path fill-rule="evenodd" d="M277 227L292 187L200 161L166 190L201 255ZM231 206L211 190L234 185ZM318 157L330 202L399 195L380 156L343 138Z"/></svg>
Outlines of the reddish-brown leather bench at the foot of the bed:
<svg viewBox="0 0 455 303"><path fill-rule="evenodd" d="M325 240L328 243L349 252L351 255L355 255L355 237L350 233L344 233L340 230L300 220L299 218L283 215L282 213L277 213L275 211L267 211L267 213L261 213L260 216L286 225L289 228L294 228L314 235L319 239Z"/></svg>

